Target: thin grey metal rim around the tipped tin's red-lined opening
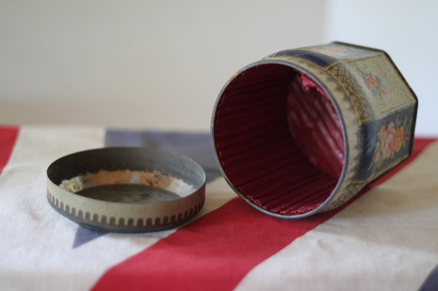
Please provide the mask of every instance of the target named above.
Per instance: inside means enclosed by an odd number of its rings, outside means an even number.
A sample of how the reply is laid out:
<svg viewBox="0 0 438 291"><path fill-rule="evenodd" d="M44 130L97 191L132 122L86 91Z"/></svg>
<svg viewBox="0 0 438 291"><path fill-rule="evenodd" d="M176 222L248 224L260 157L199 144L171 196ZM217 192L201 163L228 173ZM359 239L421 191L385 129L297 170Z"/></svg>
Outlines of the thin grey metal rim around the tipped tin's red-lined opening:
<svg viewBox="0 0 438 291"><path fill-rule="evenodd" d="M343 168L342 168L342 172L341 175L339 177L338 183L336 184L336 187L333 189L332 193L330 194L329 197L327 197L327 199L321 204L319 205L317 208L308 211L306 213L302 213L302 214L298 214L298 215L281 215L281 214L276 214L270 211L267 211L261 207L259 207L257 204L255 204L251 199L247 198L246 196L244 196L244 194L240 193L240 191L231 183L230 179L226 176L225 171L223 170L220 162L219 162L219 156L218 153L216 151L216 147L215 147L215 141L214 141L214 121L215 121L215 115L216 115L216 111L217 111L217 107L219 105L219 102L223 96L224 91L227 89L227 87L229 86L229 84L237 77L239 76L241 73L245 72L247 69L253 68L255 66L259 66L259 65L265 65L265 64L277 64L277 65L282 65L282 66L288 66L291 67L293 69L297 69L301 72L303 72L304 74L306 74L307 76L309 76L315 83L317 83L322 90L324 90L324 92L327 94L327 96L330 98L330 101L332 101L333 106L335 107L336 113L338 114L339 117L339 121L341 124L341 129L342 129L342 133L343 133L343 139L344 139L344 162L343 162ZM335 80L333 80L334 83L337 83ZM322 209L324 209L333 199L333 197L336 196L336 194L339 191L339 188L343 185L344 179L346 177L347 174L347 166L348 166L348 162L349 162L349 146L348 146L348 136L347 136L347 130L346 130L346 125L345 125L345 121L343 118L343 114L342 111L339 109L339 105L336 101L336 99L333 97L332 92L327 88L327 86L325 85L325 82L322 82L318 76L315 76L314 73L312 73L311 71L309 71L308 69L306 69L304 66L299 66L298 64L293 64L291 62L287 62L287 61L282 61L282 60L274 60L274 59L268 59L268 60L260 60L258 62L254 62L250 65L245 66L244 68L240 69L237 73L235 73L227 82L226 84L223 86L223 88L221 89L221 91L219 92L219 95L216 99L215 102L215 106L213 108L213 113L212 113L212 121L211 121L211 126L210 126L210 130L211 130L211 137L212 137L212 144L213 144L213 149L215 151L215 157L216 157L216 163L219 166L219 169L223 175L223 177L225 178L226 182L230 185L230 187L233 189L234 192L236 192L237 195L239 195L240 197L242 197L248 204L250 204L252 207L256 208L259 211L262 211L268 215L274 216L274 217L280 217L280 218L289 218L289 219L297 219L297 218L304 218L310 215L313 215L317 212L320 212ZM351 135L351 133L350 133Z"/></svg>

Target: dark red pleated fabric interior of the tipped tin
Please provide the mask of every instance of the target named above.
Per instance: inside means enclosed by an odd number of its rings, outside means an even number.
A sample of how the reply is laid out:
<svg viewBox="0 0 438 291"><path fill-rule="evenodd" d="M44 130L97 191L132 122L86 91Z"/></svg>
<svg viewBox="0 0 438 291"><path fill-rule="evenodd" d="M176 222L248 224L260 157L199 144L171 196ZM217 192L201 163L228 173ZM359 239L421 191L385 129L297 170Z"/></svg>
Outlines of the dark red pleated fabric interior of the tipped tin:
<svg viewBox="0 0 438 291"><path fill-rule="evenodd" d="M267 211L312 211L336 187L344 160L339 117L296 69L264 64L240 73L219 100L213 128L226 178Z"/></svg>

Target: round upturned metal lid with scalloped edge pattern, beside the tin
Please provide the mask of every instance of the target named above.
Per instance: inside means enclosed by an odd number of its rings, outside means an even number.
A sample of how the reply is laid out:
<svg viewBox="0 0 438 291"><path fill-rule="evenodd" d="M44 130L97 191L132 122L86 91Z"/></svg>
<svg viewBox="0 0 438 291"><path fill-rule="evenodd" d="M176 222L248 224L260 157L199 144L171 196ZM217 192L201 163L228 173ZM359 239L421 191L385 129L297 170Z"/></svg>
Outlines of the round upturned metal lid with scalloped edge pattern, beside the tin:
<svg viewBox="0 0 438 291"><path fill-rule="evenodd" d="M117 184L144 185L157 188L157 193L177 196L145 203L76 194ZM145 195L149 194L141 197ZM60 214L88 228L130 233L158 231L178 225L201 210L205 202L205 172L192 159L174 152L135 147L92 149L64 156L48 167L47 199Z"/></svg>

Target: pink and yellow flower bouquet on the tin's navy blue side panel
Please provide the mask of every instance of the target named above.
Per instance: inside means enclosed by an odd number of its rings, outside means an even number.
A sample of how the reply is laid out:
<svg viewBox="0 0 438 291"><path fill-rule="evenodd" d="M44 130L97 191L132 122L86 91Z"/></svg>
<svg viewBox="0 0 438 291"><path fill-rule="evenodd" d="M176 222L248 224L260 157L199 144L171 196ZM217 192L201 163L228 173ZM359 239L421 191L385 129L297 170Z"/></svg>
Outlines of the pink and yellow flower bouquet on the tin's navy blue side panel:
<svg viewBox="0 0 438 291"><path fill-rule="evenodd" d="M400 149L406 148L406 142L409 141L411 133L411 125L412 118L408 119L407 117L403 124L397 117L396 121L390 121L388 126L382 125L381 131L374 136L368 145L367 154L374 150L373 159L367 169L368 171L373 168L378 170L386 159L396 158Z"/></svg>

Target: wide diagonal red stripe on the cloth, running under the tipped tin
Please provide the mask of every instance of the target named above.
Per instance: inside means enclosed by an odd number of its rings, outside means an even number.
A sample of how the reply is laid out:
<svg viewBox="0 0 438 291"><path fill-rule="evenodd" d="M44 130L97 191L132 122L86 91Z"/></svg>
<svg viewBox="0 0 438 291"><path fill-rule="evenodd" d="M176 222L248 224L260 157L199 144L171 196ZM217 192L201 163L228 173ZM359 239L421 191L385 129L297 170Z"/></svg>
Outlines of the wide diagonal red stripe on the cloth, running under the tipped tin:
<svg viewBox="0 0 438 291"><path fill-rule="evenodd" d="M416 139L409 160L320 215L273 218L236 197L112 267L92 290L232 290L253 267L388 180L433 141Z"/></svg>

